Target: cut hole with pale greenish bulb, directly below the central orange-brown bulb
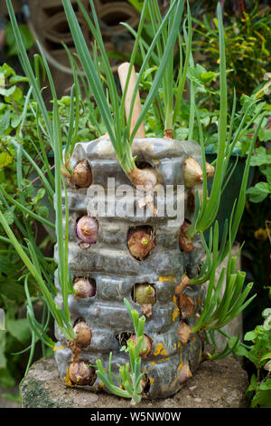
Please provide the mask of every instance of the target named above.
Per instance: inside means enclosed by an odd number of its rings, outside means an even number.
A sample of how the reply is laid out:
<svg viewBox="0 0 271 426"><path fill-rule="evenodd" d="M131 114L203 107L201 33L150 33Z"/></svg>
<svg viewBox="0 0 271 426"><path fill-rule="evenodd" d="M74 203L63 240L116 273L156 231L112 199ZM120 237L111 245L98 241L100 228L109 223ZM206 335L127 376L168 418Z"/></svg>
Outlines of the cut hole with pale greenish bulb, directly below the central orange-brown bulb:
<svg viewBox="0 0 271 426"><path fill-rule="evenodd" d="M149 318L152 315L152 307L156 303L154 285L135 284L132 289L132 299L140 305L143 314Z"/></svg>

